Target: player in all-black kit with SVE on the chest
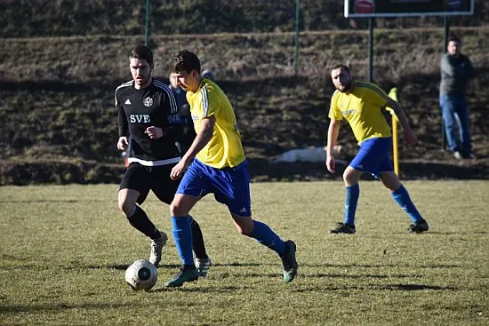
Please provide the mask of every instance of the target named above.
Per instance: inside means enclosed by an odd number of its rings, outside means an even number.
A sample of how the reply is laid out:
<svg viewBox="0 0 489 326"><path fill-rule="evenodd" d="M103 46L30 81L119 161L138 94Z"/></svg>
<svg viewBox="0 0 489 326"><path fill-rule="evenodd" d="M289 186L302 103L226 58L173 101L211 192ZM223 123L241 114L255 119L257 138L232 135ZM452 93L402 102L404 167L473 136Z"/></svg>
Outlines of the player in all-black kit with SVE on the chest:
<svg viewBox="0 0 489 326"><path fill-rule="evenodd" d="M152 190L163 203L172 203L180 184L172 180L172 167L180 161L175 138L180 132L180 114L172 90L153 78L153 52L144 45L129 53L132 81L116 88L119 108L117 148L128 149L129 166L119 187L118 204L132 227L151 238L149 261L155 266L168 236L148 219L140 208ZM205 276L211 266L199 225L190 221L196 268Z"/></svg>

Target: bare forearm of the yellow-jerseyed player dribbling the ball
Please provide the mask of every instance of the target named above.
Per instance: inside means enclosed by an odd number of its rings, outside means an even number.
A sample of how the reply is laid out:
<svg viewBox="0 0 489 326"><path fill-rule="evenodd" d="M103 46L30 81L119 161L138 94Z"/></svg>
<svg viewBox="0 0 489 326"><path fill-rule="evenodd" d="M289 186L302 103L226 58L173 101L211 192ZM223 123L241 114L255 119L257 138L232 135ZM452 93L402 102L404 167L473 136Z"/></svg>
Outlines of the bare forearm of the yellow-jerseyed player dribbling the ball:
<svg viewBox="0 0 489 326"><path fill-rule="evenodd" d="M200 131L197 133L196 139L194 139L194 142L188 148L187 153L183 155L180 162L173 166L172 172L170 173L170 177L173 180L179 179L187 171L188 165L196 157L197 153L211 140L215 123L216 119L213 115L202 119L200 122Z"/></svg>

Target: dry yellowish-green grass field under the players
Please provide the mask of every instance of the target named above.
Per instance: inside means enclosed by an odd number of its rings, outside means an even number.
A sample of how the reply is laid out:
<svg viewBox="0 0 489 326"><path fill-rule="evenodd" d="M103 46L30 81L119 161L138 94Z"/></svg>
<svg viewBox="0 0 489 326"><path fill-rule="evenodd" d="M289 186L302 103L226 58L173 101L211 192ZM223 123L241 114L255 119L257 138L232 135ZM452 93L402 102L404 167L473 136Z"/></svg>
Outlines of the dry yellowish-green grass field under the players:
<svg viewBox="0 0 489 326"><path fill-rule="evenodd" d="M238 235L207 196L193 211L207 278L164 289L180 265L169 241L150 292L124 283L149 243L117 210L116 185L1 187L0 324L489 324L489 182L405 186L427 234L405 231L409 219L377 182L360 186L356 235L327 234L342 220L339 180L252 184L255 219L297 243L289 284L277 256ZM153 195L143 207L170 233L168 207Z"/></svg>

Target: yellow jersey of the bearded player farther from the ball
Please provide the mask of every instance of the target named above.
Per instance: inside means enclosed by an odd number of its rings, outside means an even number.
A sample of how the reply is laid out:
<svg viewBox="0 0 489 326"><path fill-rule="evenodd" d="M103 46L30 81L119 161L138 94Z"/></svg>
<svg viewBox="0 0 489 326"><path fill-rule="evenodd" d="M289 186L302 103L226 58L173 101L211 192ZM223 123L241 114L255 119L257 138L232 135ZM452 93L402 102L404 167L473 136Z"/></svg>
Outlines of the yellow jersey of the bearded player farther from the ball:
<svg viewBox="0 0 489 326"><path fill-rule="evenodd" d="M347 94L334 91L329 117L345 118L360 144L365 139L390 137L390 128L381 108L389 96L373 83L355 82L355 89Z"/></svg>

